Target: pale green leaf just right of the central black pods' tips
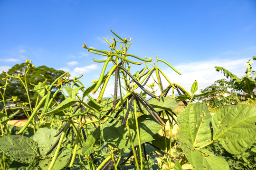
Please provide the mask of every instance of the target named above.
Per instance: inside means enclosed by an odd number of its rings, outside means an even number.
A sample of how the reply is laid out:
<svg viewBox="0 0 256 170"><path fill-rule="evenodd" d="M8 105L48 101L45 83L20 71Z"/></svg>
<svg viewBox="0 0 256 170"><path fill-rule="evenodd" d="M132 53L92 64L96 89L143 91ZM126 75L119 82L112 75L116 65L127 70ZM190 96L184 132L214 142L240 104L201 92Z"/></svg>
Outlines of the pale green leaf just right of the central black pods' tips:
<svg viewBox="0 0 256 170"><path fill-rule="evenodd" d="M172 111L178 106L178 103L171 97L160 97L160 100L151 98L148 102L157 112L161 110Z"/></svg>

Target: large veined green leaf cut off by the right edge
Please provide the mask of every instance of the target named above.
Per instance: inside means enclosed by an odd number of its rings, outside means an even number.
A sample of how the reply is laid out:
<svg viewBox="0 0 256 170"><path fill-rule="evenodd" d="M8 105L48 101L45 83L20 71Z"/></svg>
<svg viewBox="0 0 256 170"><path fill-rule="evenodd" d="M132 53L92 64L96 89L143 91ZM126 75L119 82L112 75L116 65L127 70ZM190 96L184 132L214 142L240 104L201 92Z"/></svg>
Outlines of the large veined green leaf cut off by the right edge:
<svg viewBox="0 0 256 170"><path fill-rule="evenodd" d="M256 136L256 107L241 104L219 110L212 118L213 140L232 154L245 152Z"/></svg>

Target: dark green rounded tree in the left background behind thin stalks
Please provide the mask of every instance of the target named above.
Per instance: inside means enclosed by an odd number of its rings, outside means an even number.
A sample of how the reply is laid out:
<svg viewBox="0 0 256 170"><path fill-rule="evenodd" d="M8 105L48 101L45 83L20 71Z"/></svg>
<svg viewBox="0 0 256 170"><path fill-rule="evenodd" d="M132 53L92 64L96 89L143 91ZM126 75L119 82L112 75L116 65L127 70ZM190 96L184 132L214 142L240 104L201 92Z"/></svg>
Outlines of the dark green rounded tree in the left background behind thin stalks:
<svg viewBox="0 0 256 170"><path fill-rule="evenodd" d="M16 64L12 68L10 68L6 73L3 72L2 74L0 74L0 87L2 87L0 88L0 92L3 94L4 85L6 84L6 80L8 79L7 80L8 84L5 87L6 90L5 90L4 98L12 99L12 97L17 96L17 99L20 100L21 103L22 102L28 103L28 95L29 95L30 102L32 101L31 106L34 107L36 104L38 93L32 92L30 90L34 89L34 86L38 85L38 83L43 83L46 80L47 80L46 82L47 85L51 84L55 79L57 79L57 77L63 75L65 72L62 70L56 70L54 68L48 68L46 66L34 67L33 64L28 62L29 61L27 60L26 63ZM26 71L28 72L25 76ZM11 75L16 75L16 77ZM26 81L25 81L25 77L26 77ZM28 95L24 87L25 82L28 87ZM51 93L54 93L56 90L57 88L53 88ZM61 95L61 93L59 92L56 96L56 99L62 100L64 99L64 96ZM2 108L3 103L1 102L0 104Z"/></svg>

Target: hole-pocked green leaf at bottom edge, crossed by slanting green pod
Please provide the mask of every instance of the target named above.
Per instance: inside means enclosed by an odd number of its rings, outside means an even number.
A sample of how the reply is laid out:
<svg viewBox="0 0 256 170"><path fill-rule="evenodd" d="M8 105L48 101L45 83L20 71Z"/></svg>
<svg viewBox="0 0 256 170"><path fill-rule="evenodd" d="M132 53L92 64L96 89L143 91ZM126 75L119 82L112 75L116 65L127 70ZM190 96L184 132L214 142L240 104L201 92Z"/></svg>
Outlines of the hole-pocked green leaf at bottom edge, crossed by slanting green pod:
<svg viewBox="0 0 256 170"><path fill-rule="evenodd" d="M69 163L70 156L71 152L69 150L61 151L58 154L57 160L55 161L55 164L53 165L51 170L61 170L65 168L66 164ZM36 166L38 168L41 168L41 170L48 170L51 161L52 159L40 160Z"/></svg>

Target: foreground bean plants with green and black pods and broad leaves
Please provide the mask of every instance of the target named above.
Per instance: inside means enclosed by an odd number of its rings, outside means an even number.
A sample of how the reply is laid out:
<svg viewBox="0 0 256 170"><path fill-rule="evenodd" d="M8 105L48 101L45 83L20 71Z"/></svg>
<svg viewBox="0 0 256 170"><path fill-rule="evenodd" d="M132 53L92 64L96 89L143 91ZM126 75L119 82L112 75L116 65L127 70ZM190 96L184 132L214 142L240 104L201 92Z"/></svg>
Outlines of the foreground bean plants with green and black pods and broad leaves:
<svg viewBox="0 0 256 170"><path fill-rule="evenodd" d="M158 57L152 63L151 58L142 59L127 53L131 38L123 39L112 33L117 40L111 37L113 42L107 41L110 51L83 45L89 52L107 57L104 61L94 59L95 62L104 62L104 67L92 86L85 87L79 81L81 76L69 79L68 72L59 75L49 85L36 85L31 91L38 95L38 101L34 108L21 108L27 114L28 121L20 128L8 126L8 120L13 115L8 114L6 109L0 112L2 170L12 167L26 170L182 170L181 165L188 161L197 170L229 170L230 163L219 157L218 152L212 152L209 146L218 143L233 155L245 154L254 144L256 107L228 106L211 116L207 106L191 104L191 101L215 91L195 94L197 81L193 83L191 93L171 83L158 67L158 61L178 74L179 71ZM117 49L119 43L122 45ZM140 72L132 73L133 64L142 64L132 58L145 62ZM28 68L32 67L30 62L26 62ZM107 72L105 69L109 64L112 68ZM114 78L115 82L114 99L104 99L104 90L110 78ZM149 78L161 91L160 96L156 96L155 89L151 88L154 85L148 85ZM164 88L161 78L165 78L170 85ZM21 78L19 80L22 81ZM24 82L27 83L25 76ZM1 88L1 102L5 104L4 91L8 86L5 84ZM51 94L53 88L57 90ZM168 97L171 88L172 97ZM64 96L63 89L68 96ZM180 96L174 98L174 90ZM59 91L65 97L61 103L56 101ZM29 99L28 89L26 93ZM91 93L97 94L96 99ZM87 102L84 101L86 96L89 98ZM185 102L187 99L190 99L189 103ZM173 112L177 101L183 101L187 106L178 118ZM176 123L180 133L173 138L167 132L172 132ZM182 161L176 159L172 164L174 147L182 148L185 156Z"/></svg>

